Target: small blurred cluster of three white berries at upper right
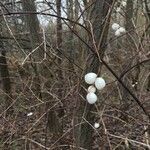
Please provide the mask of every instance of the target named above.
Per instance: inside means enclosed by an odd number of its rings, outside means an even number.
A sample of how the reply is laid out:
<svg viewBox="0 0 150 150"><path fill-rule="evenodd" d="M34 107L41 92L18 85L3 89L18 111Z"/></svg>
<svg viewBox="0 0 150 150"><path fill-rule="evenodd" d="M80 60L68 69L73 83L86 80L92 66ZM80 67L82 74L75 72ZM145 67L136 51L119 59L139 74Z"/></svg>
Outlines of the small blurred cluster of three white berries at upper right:
<svg viewBox="0 0 150 150"><path fill-rule="evenodd" d="M111 27L115 31L116 36L120 36L126 32L125 28L121 27L118 23L113 23Z"/></svg>

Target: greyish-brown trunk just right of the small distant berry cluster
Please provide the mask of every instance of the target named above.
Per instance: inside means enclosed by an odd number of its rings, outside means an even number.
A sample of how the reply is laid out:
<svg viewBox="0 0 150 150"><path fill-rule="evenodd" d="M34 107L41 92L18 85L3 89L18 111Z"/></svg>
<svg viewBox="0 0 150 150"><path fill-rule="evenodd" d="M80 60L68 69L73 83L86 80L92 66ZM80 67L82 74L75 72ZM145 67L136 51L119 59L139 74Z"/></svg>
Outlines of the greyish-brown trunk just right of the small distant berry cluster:
<svg viewBox="0 0 150 150"><path fill-rule="evenodd" d="M126 36L126 43L128 43L128 48L127 48L127 52L126 52L126 57L127 59L129 59L129 56L132 57L133 56L133 49L135 48L134 46L134 26L133 26L133 2L130 0L127 0L127 6L126 6L126 14L125 14L125 29L127 32L129 32L129 34L127 34ZM134 46L134 48L132 49L132 46ZM134 49L135 50L135 49ZM129 61L129 60L128 60ZM132 62L126 62L125 64L123 64L122 66L122 71L130 68L130 66L132 66ZM124 83L126 84L126 86L129 88L130 86L130 82L131 82L131 73L128 74L127 76L123 77L122 79L124 81ZM129 82L130 81L130 82ZM128 94L128 92L122 87L122 85L119 85L120 87L120 91L121 91L121 110L123 111L128 111L129 110L129 106L131 105L131 101L130 99L130 95ZM128 122L128 117L124 114L121 115L121 119Z"/></svg>

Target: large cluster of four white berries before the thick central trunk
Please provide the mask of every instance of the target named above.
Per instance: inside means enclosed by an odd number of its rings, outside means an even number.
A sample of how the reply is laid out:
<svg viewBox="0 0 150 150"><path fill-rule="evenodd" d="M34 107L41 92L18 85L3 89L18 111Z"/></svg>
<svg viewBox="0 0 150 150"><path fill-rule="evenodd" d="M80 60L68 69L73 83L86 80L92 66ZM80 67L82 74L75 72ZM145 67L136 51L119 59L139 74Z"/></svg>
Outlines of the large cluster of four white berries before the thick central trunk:
<svg viewBox="0 0 150 150"><path fill-rule="evenodd" d="M106 82L102 77L97 77L97 74L90 72L84 76L84 80L87 84L91 84L88 87L88 94L86 95L86 100L89 104L94 104L97 101L97 95L95 94L96 89L102 90Z"/></svg>

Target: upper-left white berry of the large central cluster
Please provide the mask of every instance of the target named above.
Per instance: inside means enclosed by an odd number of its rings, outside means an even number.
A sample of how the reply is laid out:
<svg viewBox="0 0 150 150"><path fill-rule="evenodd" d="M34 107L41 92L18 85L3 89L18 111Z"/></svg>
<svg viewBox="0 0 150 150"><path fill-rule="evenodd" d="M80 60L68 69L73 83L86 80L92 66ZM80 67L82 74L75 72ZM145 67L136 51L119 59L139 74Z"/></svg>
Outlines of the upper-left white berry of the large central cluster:
<svg viewBox="0 0 150 150"><path fill-rule="evenodd" d="M87 73L84 76L84 80L87 84L93 84L96 80L97 75L93 72Z"/></svg>

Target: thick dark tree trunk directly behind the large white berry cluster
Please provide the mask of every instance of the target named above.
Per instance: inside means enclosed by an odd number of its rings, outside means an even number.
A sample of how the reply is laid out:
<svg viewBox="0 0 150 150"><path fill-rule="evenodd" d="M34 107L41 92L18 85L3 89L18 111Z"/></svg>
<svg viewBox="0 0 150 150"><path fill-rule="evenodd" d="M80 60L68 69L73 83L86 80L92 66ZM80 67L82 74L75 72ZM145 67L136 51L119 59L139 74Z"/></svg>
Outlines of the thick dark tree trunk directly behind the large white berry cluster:
<svg viewBox="0 0 150 150"><path fill-rule="evenodd" d="M111 0L96 0L93 4L91 11L89 12L89 20L92 24L93 33L96 41L96 45L98 47L99 45L99 55L101 58L104 56L105 48L104 43L107 41L107 34L108 34L108 27L109 27L109 19L107 20L107 25L104 27L104 24L106 23L106 15L108 13L108 10L110 6L112 5ZM102 35L102 32L105 33ZM101 38L101 41L100 41ZM90 38L89 45L93 46L93 39ZM101 64L99 62L99 59L97 55L95 54L91 60L89 60L87 64L87 68L85 70L85 73L87 72L95 72L98 73L98 70L101 70ZM86 97L86 93L84 90L81 89L81 94ZM85 109L86 108L86 109ZM87 104L85 101L80 100L77 102L77 109L75 111L74 116L74 126L81 123L82 121L85 122L88 121L89 124L94 124L94 114L92 113L92 110L94 110L94 105ZM84 116L83 116L84 114ZM83 119L83 117L85 119ZM77 149L79 147L91 150L93 145L93 128L89 125L87 122L78 125L74 129L74 136L75 136L75 143L77 146Z"/></svg>

